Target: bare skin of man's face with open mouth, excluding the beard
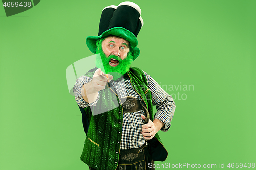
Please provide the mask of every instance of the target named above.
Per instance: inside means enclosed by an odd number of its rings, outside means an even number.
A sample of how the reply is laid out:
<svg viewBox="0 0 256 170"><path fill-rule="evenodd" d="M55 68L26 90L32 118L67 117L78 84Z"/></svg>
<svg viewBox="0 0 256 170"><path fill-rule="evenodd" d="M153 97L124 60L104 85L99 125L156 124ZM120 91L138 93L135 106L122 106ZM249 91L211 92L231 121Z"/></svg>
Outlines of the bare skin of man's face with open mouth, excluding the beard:
<svg viewBox="0 0 256 170"><path fill-rule="evenodd" d="M102 50L107 57L115 55L123 60L127 57L129 52L129 42L120 37L108 37L102 41ZM110 66L115 67L118 64L117 60L113 58L110 59Z"/></svg>

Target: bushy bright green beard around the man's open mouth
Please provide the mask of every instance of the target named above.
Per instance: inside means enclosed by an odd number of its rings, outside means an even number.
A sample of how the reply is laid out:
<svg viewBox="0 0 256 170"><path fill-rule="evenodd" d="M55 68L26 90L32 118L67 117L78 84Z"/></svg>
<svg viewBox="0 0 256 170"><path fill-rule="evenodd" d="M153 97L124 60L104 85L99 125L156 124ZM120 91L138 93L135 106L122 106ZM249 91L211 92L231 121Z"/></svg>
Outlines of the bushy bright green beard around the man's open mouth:
<svg viewBox="0 0 256 170"><path fill-rule="evenodd" d="M104 73L108 73L112 75L113 80L117 80L121 78L123 74L128 72L130 65L133 61L133 56L131 55L130 51L127 54L127 57L123 60L120 57L115 55L110 55L109 57L107 57L101 47L99 48L99 50L98 48L96 49L96 54L98 54L96 56L96 61L95 61L96 67L101 68L102 71L104 70L105 71L105 72L103 71ZM112 67L109 65L111 58L119 61L117 66Z"/></svg>

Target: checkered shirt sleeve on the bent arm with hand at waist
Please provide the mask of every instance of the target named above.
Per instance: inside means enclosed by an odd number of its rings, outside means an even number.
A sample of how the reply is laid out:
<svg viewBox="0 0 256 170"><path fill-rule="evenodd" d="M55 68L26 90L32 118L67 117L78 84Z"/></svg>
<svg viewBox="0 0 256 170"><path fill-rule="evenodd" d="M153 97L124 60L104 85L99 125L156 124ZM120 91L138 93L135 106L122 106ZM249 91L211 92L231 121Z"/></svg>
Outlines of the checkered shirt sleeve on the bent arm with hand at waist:
<svg viewBox="0 0 256 170"><path fill-rule="evenodd" d="M144 72L144 71L143 71ZM161 128L162 131L166 132L170 129L170 121L174 116L175 103L167 92L165 92L160 85L146 72L144 72L148 88L152 94L152 104L156 105L157 112L155 114L155 119L159 119L164 126Z"/></svg>

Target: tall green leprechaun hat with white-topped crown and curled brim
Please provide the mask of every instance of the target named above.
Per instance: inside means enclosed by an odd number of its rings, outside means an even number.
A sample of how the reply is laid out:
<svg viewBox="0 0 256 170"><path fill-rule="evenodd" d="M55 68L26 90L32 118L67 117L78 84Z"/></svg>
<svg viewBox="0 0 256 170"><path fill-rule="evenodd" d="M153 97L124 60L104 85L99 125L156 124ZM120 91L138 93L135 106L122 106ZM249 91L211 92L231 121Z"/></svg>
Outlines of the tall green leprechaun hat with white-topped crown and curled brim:
<svg viewBox="0 0 256 170"><path fill-rule="evenodd" d="M86 44L91 52L96 54L96 41L108 35L121 37L130 43L130 51L135 60L140 50L137 35L143 26L140 7L129 1L120 3L118 6L111 5L102 11L98 36L88 36Z"/></svg>

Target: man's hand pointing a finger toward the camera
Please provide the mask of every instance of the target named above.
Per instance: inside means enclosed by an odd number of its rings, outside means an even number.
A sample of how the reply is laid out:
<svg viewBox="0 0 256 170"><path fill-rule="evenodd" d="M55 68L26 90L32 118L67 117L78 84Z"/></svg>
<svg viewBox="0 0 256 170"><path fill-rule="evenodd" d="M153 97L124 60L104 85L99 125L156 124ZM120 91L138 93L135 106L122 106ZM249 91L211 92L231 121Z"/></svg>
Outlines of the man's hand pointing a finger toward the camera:
<svg viewBox="0 0 256 170"><path fill-rule="evenodd" d="M96 101L98 96L98 91L105 89L106 83L110 82L113 76L109 74L104 74L101 69L97 69L94 72L93 79L87 84L84 84L81 89L81 94L84 101L92 103Z"/></svg>

